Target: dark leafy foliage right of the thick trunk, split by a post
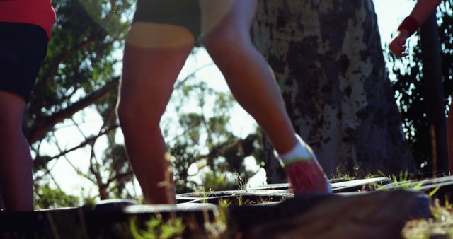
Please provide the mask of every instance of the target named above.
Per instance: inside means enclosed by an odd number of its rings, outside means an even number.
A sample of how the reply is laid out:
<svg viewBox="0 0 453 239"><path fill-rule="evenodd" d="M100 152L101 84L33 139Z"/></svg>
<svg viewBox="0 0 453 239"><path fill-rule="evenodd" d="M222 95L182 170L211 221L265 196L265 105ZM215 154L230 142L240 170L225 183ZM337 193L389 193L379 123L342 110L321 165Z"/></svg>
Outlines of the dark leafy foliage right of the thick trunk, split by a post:
<svg viewBox="0 0 453 239"><path fill-rule="evenodd" d="M453 1L451 0L443 1L440 8L441 11L437 13L442 49L442 79L445 105L449 105L449 96L453 93L453 13L447 10L452 4ZM396 76L396 79L391 83L394 87L401 117L403 118L403 130L406 133L415 161L423 171L430 172L431 134L426 115L427 105L425 105L425 100L423 99L423 83L421 81L423 78L423 64L421 62L420 45L415 44L413 49L409 50L411 50L411 60L406 58L398 59L388 49L386 50L388 62L393 64L393 69L390 69L390 71ZM449 107L445 110L446 116L448 109Z"/></svg>

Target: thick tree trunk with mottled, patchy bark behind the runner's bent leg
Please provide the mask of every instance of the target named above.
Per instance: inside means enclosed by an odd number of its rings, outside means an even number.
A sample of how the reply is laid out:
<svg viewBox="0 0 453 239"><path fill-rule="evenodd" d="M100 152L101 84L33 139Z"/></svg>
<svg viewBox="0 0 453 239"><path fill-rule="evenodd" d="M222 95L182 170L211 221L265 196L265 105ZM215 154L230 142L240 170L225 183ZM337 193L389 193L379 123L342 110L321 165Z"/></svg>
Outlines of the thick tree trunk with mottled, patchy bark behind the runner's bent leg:
<svg viewBox="0 0 453 239"><path fill-rule="evenodd" d="M258 1L252 35L328 175L415 171L372 0ZM270 163L268 182L280 182Z"/></svg>

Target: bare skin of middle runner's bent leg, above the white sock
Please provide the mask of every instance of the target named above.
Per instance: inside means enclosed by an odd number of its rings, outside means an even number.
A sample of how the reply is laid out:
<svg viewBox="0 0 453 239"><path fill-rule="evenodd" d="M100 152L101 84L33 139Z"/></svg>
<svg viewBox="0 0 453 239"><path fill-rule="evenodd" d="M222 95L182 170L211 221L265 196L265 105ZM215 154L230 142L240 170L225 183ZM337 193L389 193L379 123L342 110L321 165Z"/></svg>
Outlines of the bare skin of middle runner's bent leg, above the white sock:
<svg viewBox="0 0 453 239"><path fill-rule="evenodd" d="M275 150L285 153L297 139L273 73L250 39L256 0L221 0L222 8L218 2L200 1L205 47L239 104L268 134Z"/></svg>

